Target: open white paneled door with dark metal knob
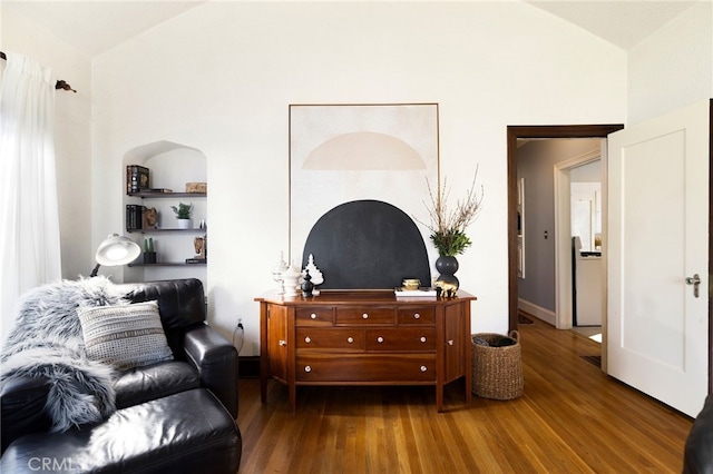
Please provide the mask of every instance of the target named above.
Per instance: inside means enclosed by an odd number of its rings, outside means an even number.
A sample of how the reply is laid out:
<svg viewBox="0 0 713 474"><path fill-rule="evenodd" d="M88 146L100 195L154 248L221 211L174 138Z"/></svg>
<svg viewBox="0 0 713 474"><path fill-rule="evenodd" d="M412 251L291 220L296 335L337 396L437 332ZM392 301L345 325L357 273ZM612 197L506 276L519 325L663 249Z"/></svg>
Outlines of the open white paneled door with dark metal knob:
<svg viewBox="0 0 713 474"><path fill-rule="evenodd" d="M707 393L709 121L706 100L608 140L608 373L690 416Z"/></svg>

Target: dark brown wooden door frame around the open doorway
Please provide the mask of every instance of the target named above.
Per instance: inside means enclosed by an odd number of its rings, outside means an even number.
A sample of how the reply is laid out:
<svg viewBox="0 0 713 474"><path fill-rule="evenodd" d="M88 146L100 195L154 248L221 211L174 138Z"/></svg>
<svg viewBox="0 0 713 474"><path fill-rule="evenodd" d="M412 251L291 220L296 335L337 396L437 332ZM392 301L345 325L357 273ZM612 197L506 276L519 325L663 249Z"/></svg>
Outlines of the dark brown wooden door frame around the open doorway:
<svg viewBox="0 0 713 474"><path fill-rule="evenodd" d="M508 326L517 329L517 140L519 138L606 138L624 128L605 125L508 126ZM557 315L558 316L558 315Z"/></svg>

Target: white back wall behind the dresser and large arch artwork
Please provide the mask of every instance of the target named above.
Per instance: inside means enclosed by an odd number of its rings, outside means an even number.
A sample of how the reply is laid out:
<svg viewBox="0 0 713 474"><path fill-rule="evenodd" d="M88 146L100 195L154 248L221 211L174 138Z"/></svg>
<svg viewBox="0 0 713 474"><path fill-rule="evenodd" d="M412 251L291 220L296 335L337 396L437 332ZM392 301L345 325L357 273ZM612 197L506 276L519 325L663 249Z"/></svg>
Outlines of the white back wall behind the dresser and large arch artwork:
<svg viewBox="0 0 713 474"><path fill-rule="evenodd" d="M626 116L625 53L517 2L213 2L98 57L94 83L94 240L123 225L126 150L203 151L209 317L228 336L243 318L242 355L289 244L290 103L440 103L442 174L459 195L479 164L485 185L458 271L473 332L507 330L507 125Z"/></svg>

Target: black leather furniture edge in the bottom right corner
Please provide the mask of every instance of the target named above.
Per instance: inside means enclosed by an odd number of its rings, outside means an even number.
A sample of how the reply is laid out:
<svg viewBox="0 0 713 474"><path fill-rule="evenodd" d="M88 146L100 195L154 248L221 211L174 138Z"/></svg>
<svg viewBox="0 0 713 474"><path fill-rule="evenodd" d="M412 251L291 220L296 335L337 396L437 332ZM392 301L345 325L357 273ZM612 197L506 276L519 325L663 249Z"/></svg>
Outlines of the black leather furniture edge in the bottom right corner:
<svg viewBox="0 0 713 474"><path fill-rule="evenodd" d="M684 474L713 474L713 394L693 422L683 456Z"/></svg>

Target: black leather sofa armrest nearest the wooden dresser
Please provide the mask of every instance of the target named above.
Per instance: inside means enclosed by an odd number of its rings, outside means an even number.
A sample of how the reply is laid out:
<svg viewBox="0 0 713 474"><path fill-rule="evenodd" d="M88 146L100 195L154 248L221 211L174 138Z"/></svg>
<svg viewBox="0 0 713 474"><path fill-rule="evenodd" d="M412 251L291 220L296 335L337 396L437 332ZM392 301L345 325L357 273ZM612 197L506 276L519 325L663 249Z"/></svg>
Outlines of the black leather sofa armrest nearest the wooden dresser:
<svg viewBox="0 0 713 474"><path fill-rule="evenodd" d="M237 418L237 349L212 327L201 324L186 332L186 358L208 388Z"/></svg>

